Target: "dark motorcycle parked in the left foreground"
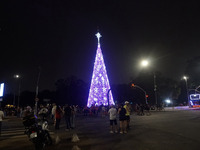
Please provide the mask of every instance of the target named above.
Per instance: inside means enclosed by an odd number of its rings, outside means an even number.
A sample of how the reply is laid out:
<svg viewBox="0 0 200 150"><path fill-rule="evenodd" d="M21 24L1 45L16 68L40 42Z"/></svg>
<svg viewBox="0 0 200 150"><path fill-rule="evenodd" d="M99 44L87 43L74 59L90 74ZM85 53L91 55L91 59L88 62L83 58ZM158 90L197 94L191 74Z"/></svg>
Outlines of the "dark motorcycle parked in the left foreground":
<svg viewBox="0 0 200 150"><path fill-rule="evenodd" d="M46 120L39 120L37 116L29 115L23 118L23 124L25 126L24 133L34 143L35 150L43 150L46 145L52 144Z"/></svg>

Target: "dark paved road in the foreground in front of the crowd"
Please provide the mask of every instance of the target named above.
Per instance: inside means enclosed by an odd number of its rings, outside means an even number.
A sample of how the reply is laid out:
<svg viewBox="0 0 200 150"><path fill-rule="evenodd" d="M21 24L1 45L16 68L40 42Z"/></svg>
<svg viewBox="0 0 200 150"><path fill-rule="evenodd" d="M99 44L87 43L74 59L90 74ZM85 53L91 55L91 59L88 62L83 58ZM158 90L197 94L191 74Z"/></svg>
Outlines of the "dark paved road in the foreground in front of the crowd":
<svg viewBox="0 0 200 150"><path fill-rule="evenodd" d="M63 122L64 123L64 122ZM19 119L4 122L0 138L0 150L33 150L33 145L23 135ZM59 143L47 147L48 150L199 150L200 149L200 110L166 110L152 112L151 116L131 116L131 129L127 134L110 134L108 117L83 117L76 119L77 128L66 132L64 124L51 136ZM14 125L14 126L13 126ZM17 129L17 131L13 130ZM10 130L10 131L8 131ZM14 132L21 135L14 135ZM76 133L79 142L71 142ZM6 134L6 136L5 136Z"/></svg>

